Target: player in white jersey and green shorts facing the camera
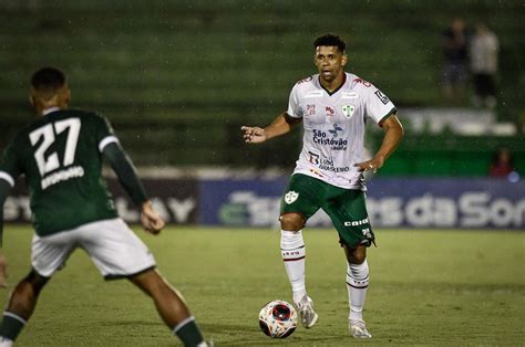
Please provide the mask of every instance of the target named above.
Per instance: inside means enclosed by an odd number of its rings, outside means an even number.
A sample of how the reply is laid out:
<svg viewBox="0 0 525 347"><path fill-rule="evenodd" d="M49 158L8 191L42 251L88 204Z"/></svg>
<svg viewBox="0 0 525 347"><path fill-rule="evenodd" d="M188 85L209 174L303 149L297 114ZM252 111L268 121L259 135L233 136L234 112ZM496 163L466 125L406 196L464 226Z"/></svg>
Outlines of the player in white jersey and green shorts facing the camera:
<svg viewBox="0 0 525 347"><path fill-rule="evenodd" d="M313 42L318 74L296 83L288 111L265 128L243 126L246 143L259 144L285 135L302 123L302 151L280 209L280 249L294 303L301 323L318 320L305 281L306 248L301 230L319 209L331 218L347 257L349 329L354 338L371 338L362 317L369 284L367 248L374 243L364 203L363 171L380 169L403 137L395 106L371 83L344 72L346 43L326 34ZM373 158L364 158L364 125L383 128Z"/></svg>

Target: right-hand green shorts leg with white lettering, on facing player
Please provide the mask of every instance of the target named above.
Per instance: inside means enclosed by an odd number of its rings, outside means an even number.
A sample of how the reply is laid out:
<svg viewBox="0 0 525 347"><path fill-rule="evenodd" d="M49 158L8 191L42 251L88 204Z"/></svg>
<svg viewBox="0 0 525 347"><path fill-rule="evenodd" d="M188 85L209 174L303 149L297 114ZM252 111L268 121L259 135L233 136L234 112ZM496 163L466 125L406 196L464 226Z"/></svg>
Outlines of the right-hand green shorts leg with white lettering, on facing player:
<svg viewBox="0 0 525 347"><path fill-rule="evenodd" d="M374 242L363 191L333 188L333 194L327 199L322 209L332 220L342 244L353 249Z"/></svg>

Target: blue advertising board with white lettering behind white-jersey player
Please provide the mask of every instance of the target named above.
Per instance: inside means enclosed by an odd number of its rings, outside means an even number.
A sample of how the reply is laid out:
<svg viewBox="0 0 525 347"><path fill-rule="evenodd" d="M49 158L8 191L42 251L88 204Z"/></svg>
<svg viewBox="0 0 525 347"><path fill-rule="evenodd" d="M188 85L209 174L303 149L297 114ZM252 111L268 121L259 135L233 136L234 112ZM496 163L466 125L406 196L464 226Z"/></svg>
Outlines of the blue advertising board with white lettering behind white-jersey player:
<svg viewBox="0 0 525 347"><path fill-rule="evenodd" d="M287 178L200 181L199 223L278 227ZM525 229L525 181L491 178L375 178L367 206L374 228ZM331 227L322 211L310 227Z"/></svg>

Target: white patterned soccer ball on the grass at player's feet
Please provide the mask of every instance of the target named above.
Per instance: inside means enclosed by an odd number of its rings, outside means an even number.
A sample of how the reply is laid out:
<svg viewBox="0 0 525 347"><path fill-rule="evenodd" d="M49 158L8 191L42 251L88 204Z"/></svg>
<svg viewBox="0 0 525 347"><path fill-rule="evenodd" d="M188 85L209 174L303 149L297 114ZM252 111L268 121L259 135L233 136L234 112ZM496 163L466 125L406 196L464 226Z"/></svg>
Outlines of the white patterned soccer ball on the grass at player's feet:
<svg viewBox="0 0 525 347"><path fill-rule="evenodd" d="M259 326L269 337L288 337L297 328L297 311L280 299L269 302L260 309Z"/></svg>

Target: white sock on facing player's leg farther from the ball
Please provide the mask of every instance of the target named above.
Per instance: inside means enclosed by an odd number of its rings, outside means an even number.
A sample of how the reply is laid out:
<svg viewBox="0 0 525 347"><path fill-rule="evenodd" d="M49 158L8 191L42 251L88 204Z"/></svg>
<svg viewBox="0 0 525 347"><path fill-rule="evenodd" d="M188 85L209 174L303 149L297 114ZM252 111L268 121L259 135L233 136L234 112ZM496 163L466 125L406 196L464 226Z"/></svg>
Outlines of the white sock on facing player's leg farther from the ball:
<svg viewBox="0 0 525 347"><path fill-rule="evenodd" d="M347 290L348 303L350 306L349 319L362 319L364 298L367 297L369 282L368 262L361 264L348 264L347 266Z"/></svg>

